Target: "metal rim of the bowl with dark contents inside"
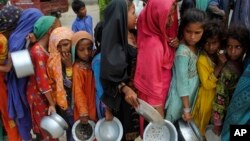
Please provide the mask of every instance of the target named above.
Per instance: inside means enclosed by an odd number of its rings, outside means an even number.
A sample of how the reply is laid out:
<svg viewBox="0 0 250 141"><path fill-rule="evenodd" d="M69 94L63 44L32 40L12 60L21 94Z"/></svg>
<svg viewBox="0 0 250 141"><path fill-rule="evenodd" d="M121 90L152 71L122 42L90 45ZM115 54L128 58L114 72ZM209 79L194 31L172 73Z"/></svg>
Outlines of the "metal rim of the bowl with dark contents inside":
<svg viewBox="0 0 250 141"><path fill-rule="evenodd" d="M88 139L88 140L80 140L77 138L76 136L76 133L75 133L75 129L76 129L76 126L80 123L81 121L80 120L77 120L73 126L72 126L72 135L73 135L73 138L75 141L93 141L95 139L95 122L92 121L92 120L88 120L88 123L91 125L92 129L93 129L93 133L91 135L91 137Z"/></svg>

